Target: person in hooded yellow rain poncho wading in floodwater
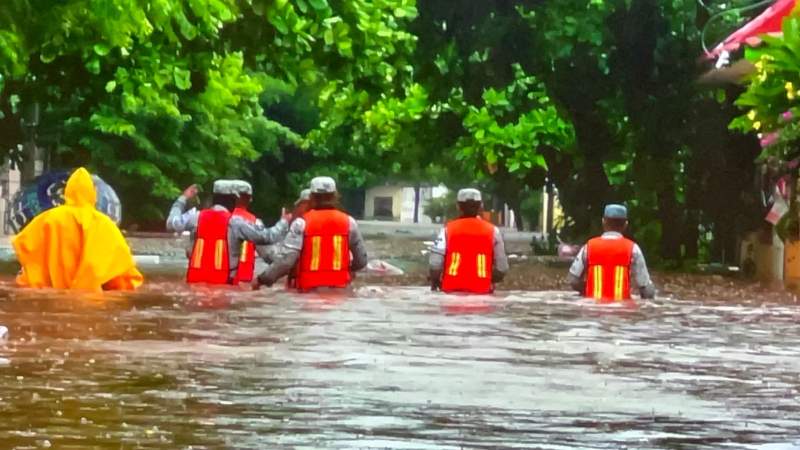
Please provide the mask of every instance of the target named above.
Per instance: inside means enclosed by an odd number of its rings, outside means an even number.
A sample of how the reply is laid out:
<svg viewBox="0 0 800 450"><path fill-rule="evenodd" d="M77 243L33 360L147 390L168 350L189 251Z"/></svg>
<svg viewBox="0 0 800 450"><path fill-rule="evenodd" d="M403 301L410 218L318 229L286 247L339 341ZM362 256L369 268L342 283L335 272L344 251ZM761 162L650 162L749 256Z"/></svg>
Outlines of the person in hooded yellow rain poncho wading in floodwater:
<svg viewBox="0 0 800 450"><path fill-rule="evenodd" d="M57 289L130 290L144 281L116 224L95 209L89 172L72 173L64 205L40 213L12 245L22 271L17 284Z"/></svg>

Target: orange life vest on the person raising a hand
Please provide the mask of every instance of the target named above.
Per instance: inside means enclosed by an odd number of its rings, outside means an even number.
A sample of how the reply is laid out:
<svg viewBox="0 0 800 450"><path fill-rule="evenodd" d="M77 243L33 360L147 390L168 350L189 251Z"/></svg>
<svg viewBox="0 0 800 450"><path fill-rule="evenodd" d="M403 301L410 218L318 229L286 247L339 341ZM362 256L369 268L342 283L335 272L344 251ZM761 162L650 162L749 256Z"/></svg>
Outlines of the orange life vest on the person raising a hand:
<svg viewBox="0 0 800 450"><path fill-rule="evenodd" d="M189 256L188 283L228 284L228 222L231 213L204 209L197 219L194 247Z"/></svg>

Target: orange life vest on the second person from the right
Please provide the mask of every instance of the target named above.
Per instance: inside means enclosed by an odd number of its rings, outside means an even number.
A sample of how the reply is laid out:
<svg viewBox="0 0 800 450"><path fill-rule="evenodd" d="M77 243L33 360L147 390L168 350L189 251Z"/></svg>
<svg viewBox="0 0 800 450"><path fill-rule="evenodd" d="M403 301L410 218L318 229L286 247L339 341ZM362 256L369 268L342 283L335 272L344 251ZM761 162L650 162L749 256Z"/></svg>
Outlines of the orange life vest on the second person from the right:
<svg viewBox="0 0 800 450"><path fill-rule="evenodd" d="M450 221L442 274L442 291L488 294L494 263L494 225L477 217Z"/></svg>

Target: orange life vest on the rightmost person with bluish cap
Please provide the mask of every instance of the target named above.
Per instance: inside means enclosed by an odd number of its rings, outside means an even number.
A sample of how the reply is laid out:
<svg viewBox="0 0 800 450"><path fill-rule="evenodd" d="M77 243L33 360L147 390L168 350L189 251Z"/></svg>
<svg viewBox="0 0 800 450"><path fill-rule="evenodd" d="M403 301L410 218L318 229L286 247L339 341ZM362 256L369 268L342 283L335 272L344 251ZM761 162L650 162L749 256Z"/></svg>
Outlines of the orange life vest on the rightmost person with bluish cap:
<svg viewBox="0 0 800 450"><path fill-rule="evenodd" d="M633 241L626 238L589 240L586 244L587 297L603 303L630 300L633 246Z"/></svg>

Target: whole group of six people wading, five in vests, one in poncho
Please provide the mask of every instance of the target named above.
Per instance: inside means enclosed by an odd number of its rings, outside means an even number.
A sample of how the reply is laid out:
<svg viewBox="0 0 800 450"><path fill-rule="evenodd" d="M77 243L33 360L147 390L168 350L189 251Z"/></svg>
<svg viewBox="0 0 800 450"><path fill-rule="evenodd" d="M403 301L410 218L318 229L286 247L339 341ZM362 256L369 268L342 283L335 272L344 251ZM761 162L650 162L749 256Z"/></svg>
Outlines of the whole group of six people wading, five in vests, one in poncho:
<svg viewBox="0 0 800 450"><path fill-rule="evenodd" d="M65 203L39 214L12 243L22 270L17 282L62 289L135 289L143 282L122 233L95 210L95 190L81 168L69 178ZM242 180L217 180L212 206L189 208L198 194L188 187L170 209L168 230L189 231L186 281L190 284L272 286L309 292L342 289L367 265L357 222L338 208L336 182L316 177L300 193L291 213L271 227L249 211L253 190ZM461 189L459 217L447 222L430 249L432 290L489 294L508 273L500 230L481 218L477 189ZM604 233L581 248L569 270L573 289L601 302L655 295L644 255L623 232L627 209L612 204L603 215ZM270 247L266 247L270 246ZM256 258L268 266L256 276Z"/></svg>

